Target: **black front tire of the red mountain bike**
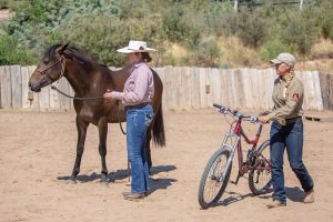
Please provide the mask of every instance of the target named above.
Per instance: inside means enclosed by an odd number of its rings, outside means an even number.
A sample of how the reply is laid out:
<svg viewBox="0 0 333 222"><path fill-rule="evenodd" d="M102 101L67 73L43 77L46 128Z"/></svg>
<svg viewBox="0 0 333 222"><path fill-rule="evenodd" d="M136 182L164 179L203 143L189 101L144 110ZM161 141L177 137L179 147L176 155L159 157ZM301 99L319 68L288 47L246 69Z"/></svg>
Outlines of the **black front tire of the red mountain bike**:
<svg viewBox="0 0 333 222"><path fill-rule="evenodd" d="M202 209L208 209L214 204L216 204L216 202L221 199L226 185L228 185L228 182L229 182L229 179L230 179L230 173L231 173L231 169L232 169L232 162L230 164L230 168L226 172L226 175L225 175L225 179L224 181L222 182L219 182L215 180L215 183L222 183L220 184L221 188L218 190L216 194L214 196L212 196L212 200L208 201L205 200L205 195L204 195L204 191L205 191L205 184L206 184L206 179L209 176L209 173L210 171L212 170L212 168L215 168L218 165L214 165L214 163L222 157L222 155L225 155L226 158L226 162L230 158L230 154L231 154L231 151L228 147L223 147L221 149L219 149L209 160L209 162L206 163L205 165L205 169L202 173L202 176L201 176L201 180L200 180L200 184L199 184L199 193L198 193L198 199L199 199L199 204L201 205ZM225 163L226 163L225 162ZM215 170L214 169L214 170ZM225 171L225 165L223 167L223 171L221 172L224 173ZM215 178L219 178L219 176L215 176ZM213 180L212 178L210 179L211 181Z"/></svg>

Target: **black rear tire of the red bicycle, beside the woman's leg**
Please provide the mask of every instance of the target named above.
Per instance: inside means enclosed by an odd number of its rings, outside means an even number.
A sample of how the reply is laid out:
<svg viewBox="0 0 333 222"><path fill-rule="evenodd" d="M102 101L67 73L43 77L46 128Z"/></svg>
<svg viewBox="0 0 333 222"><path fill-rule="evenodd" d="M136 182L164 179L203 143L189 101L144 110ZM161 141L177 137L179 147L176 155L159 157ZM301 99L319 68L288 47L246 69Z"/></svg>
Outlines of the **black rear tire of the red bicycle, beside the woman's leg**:
<svg viewBox="0 0 333 222"><path fill-rule="evenodd" d="M259 150L258 150L258 154L262 154L262 152L268 149L270 147L270 140L266 140L264 141ZM266 157L268 159L270 159L270 157ZM266 164L265 161L260 161L262 158L259 155L259 164ZM262 167L265 167L265 165L262 165ZM266 171L266 170L265 170ZM263 185L260 185L260 188L258 188L258 183L259 183L259 176L260 176L260 173L264 173L268 175L269 173L269 179L268 181L264 181L263 182ZM256 178L256 181L255 181L255 175L258 176ZM249 186L250 186L250 190L251 192L254 194L254 195L261 195L261 194L265 194L265 193L269 193L271 192L271 185L272 185L272 175L271 175L271 171L270 172L261 172L259 171L258 169L253 169L250 171L249 173Z"/></svg>

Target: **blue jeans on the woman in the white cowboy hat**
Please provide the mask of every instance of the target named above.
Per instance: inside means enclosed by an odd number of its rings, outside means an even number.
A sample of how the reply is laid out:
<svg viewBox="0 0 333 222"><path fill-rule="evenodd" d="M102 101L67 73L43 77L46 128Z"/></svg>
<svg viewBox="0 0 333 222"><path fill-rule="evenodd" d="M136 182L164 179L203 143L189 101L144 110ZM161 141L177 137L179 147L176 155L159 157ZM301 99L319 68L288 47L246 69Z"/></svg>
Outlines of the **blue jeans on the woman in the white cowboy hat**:
<svg viewBox="0 0 333 222"><path fill-rule="evenodd" d="M127 110L128 158L131 164L131 192L144 193L149 186L147 129L153 120L151 105Z"/></svg>

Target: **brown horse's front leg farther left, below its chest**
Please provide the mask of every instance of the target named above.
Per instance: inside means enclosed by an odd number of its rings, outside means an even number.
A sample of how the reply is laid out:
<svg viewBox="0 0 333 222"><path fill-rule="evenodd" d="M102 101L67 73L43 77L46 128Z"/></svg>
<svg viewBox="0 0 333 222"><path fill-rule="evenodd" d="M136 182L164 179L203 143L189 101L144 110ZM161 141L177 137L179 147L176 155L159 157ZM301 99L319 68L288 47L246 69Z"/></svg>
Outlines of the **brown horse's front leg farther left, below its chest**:
<svg viewBox="0 0 333 222"><path fill-rule="evenodd" d="M77 115L77 130L78 130L77 158L75 158L72 175L68 179L68 182L70 183L77 183L77 175L80 173L80 165L81 165L81 159L84 150L88 125L89 122L83 121Z"/></svg>

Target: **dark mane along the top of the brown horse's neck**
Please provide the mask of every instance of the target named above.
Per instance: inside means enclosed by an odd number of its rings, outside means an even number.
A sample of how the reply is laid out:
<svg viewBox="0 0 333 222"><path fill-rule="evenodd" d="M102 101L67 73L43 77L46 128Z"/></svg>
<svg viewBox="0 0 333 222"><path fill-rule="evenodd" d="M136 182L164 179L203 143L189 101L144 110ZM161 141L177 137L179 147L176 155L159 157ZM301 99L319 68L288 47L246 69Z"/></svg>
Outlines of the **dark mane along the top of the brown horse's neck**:
<svg viewBox="0 0 333 222"><path fill-rule="evenodd" d="M48 56L49 59L54 59L56 57L56 50L61 47L62 44L53 44L50 47L46 54ZM93 57L89 56L88 53L83 52L82 50L73 47L73 46L68 46L67 49L64 50L64 54L68 54L70 57L74 57L77 60L83 63L93 63L93 64L99 64L102 67L108 67L105 64L100 64Z"/></svg>

